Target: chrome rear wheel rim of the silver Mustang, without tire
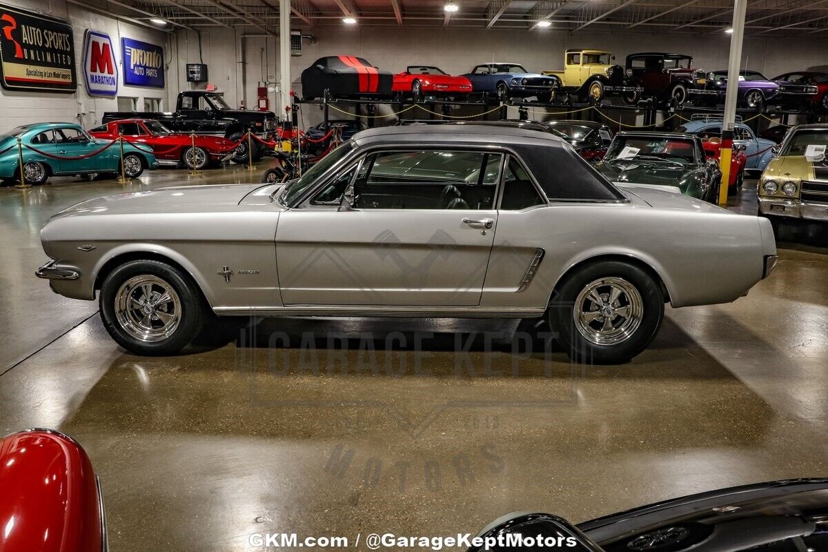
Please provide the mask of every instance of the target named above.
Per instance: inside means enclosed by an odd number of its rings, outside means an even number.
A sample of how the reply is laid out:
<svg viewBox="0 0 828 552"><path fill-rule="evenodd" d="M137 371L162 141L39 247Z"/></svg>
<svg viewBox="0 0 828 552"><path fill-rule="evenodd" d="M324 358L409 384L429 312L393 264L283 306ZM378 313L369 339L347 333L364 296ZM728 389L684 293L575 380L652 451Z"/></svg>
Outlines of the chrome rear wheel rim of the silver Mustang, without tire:
<svg viewBox="0 0 828 552"><path fill-rule="evenodd" d="M590 343L616 345L635 334L644 304L635 286L617 276L587 284L572 310L575 328Z"/></svg>

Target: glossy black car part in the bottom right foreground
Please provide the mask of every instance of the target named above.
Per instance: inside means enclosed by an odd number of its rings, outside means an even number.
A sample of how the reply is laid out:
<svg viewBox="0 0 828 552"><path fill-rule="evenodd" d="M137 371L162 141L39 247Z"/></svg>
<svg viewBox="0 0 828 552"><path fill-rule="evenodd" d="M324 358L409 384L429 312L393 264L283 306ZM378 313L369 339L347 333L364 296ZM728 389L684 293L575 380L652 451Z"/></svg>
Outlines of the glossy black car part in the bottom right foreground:
<svg viewBox="0 0 828 552"><path fill-rule="evenodd" d="M817 552L828 550L828 479L701 492L577 526L560 516L515 512L475 538L469 552Z"/></svg>

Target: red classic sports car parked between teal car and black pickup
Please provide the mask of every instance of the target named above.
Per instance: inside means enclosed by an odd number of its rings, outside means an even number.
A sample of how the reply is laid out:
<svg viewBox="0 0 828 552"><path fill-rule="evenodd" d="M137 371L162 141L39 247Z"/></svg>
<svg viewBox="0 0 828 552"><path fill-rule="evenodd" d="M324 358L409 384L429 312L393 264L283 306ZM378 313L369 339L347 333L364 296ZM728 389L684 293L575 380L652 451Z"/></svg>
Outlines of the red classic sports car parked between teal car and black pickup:
<svg viewBox="0 0 828 552"><path fill-rule="evenodd" d="M115 140L123 132L124 140L141 147L152 147L161 165L183 163L188 169L204 169L211 163L218 163L232 155L233 141L224 137L195 135L193 138L183 132L172 132L163 123L151 119L122 119L108 122L89 131L94 137Z"/></svg>

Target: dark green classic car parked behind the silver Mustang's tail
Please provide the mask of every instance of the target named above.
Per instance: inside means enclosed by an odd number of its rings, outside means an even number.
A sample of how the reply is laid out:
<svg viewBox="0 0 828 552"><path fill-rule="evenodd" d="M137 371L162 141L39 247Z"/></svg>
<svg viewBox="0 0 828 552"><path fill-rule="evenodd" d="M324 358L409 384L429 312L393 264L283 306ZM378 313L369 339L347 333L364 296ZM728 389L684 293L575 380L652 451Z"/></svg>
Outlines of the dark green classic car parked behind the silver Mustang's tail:
<svg viewBox="0 0 828 552"><path fill-rule="evenodd" d="M719 199L721 170L701 140L674 132L619 132L595 165L613 182L665 186L710 203Z"/></svg>

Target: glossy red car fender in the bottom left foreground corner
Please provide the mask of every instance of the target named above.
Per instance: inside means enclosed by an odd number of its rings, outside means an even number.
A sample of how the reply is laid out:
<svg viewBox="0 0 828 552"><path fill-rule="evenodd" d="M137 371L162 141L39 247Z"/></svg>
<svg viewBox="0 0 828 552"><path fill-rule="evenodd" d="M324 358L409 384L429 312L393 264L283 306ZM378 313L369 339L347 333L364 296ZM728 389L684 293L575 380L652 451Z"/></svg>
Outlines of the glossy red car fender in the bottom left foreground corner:
<svg viewBox="0 0 828 552"><path fill-rule="evenodd" d="M0 439L0 550L103 552L98 478L80 445L55 430Z"/></svg>

